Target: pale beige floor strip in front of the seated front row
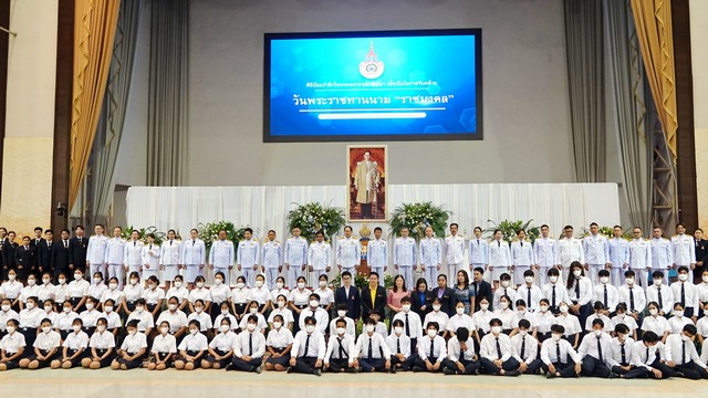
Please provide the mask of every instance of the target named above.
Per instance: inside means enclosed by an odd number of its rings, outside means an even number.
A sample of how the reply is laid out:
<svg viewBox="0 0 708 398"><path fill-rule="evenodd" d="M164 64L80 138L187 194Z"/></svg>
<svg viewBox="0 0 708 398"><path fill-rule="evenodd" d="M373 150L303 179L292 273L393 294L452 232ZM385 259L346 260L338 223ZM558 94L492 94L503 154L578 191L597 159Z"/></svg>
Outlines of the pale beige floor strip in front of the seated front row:
<svg viewBox="0 0 708 398"><path fill-rule="evenodd" d="M225 370L11 370L0 374L3 397L706 397L706 380L605 380L444 376L398 373L330 375L261 375Z"/></svg>

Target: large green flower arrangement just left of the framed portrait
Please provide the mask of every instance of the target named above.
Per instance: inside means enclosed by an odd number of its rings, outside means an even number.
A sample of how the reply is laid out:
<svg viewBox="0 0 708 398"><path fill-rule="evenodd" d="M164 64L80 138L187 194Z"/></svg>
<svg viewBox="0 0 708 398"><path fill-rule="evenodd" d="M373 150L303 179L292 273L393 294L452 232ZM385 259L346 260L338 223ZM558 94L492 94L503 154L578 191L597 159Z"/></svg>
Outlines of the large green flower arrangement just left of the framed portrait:
<svg viewBox="0 0 708 398"><path fill-rule="evenodd" d="M294 205L295 208L288 213L288 230L300 228L301 235L310 242L314 241L317 231L323 231L325 239L330 239L346 223L342 208L317 202Z"/></svg>

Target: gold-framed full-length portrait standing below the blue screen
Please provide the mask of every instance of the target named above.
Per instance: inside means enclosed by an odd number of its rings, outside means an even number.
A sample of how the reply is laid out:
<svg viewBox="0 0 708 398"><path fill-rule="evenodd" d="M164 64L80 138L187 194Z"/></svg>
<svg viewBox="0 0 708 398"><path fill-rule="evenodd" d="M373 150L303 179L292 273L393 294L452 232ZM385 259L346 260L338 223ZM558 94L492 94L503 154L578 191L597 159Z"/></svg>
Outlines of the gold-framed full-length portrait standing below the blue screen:
<svg viewBox="0 0 708 398"><path fill-rule="evenodd" d="M386 221L388 219L387 146L347 146L346 167L348 221Z"/></svg>

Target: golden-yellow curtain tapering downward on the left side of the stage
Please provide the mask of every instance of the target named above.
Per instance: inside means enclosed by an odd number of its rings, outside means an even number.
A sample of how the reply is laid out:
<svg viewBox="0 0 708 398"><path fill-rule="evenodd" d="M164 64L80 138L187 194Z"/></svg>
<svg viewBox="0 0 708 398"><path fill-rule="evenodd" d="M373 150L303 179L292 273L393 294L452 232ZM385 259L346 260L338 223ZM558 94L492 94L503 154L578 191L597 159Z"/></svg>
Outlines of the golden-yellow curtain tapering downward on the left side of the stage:
<svg viewBox="0 0 708 398"><path fill-rule="evenodd" d="M86 177L108 78L119 6L121 0L75 2L70 207Z"/></svg>

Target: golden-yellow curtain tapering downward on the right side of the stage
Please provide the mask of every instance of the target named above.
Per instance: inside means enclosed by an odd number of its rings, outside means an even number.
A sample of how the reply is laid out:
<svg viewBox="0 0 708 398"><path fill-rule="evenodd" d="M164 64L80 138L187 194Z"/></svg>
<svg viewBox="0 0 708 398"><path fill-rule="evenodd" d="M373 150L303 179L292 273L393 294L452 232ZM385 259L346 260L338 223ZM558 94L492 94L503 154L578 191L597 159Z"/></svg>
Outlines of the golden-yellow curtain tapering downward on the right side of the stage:
<svg viewBox="0 0 708 398"><path fill-rule="evenodd" d="M674 31L669 0L631 0L639 49L652 96L664 127L666 143L676 161L676 74Z"/></svg>

